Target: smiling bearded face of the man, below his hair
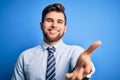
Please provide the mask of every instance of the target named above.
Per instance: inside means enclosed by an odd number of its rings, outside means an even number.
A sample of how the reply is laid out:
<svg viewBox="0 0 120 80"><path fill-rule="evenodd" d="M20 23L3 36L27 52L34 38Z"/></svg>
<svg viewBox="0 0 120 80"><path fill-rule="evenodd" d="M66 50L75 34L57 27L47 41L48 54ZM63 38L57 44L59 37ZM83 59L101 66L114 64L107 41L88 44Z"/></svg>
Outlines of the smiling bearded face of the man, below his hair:
<svg viewBox="0 0 120 80"><path fill-rule="evenodd" d="M61 12L49 12L41 23L41 29L44 34L44 41L57 42L66 31L64 14Z"/></svg>

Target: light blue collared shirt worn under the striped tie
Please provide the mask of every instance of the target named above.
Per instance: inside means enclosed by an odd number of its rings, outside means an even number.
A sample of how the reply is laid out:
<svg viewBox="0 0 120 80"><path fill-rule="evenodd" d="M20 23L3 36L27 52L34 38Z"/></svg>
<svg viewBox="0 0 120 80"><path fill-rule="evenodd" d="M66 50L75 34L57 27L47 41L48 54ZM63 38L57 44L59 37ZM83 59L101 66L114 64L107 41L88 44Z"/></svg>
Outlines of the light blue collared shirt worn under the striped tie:
<svg viewBox="0 0 120 80"><path fill-rule="evenodd" d="M19 56L14 68L12 80L45 80L47 56L50 45L41 45L25 50ZM80 46L66 45L63 41L54 45L56 51L56 80L66 80L65 74L75 67L76 60L84 51ZM94 71L93 71L94 72Z"/></svg>

